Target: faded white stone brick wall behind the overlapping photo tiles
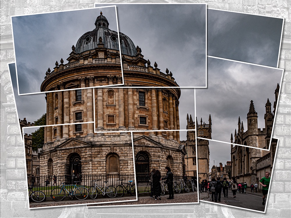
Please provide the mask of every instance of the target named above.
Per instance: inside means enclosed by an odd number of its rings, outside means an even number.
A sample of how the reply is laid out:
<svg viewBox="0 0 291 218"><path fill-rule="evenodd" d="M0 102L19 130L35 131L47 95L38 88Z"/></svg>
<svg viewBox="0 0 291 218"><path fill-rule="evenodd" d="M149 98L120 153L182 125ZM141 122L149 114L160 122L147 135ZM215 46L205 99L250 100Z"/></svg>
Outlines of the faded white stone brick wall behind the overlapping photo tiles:
<svg viewBox="0 0 291 218"><path fill-rule="evenodd" d="M94 3L137 1L109 0L1 0L0 4L0 81L1 81L1 217L290 217L291 201L291 24L289 0L197 0L197 1L139 1L207 3L208 8L233 10L275 17L284 17L279 68L284 68L283 85L278 103L274 137L279 139L273 181L266 214L230 207L200 203L196 205L136 206L121 208L87 208L71 206L28 209L25 180L25 160L18 118L15 112L8 65L14 61L10 24L11 15L24 15L58 10L90 8ZM171 214L171 215L168 215ZM157 217L157 215L155 215Z"/></svg>

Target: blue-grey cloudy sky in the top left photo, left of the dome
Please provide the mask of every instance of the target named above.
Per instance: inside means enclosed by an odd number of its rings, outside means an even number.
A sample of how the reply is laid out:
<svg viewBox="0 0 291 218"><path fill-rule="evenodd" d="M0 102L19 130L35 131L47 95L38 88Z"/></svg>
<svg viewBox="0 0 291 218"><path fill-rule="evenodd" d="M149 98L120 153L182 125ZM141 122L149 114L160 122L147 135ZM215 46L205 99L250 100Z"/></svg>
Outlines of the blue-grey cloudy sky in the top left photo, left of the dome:
<svg viewBox="0 0 291 218"><path fill-rule="evenodd" d="M100 10L117 31L115 7L12 17L20 94L40 92L47 69L52 71L61 58L68 63L72 45L95 29Z"/></svg>

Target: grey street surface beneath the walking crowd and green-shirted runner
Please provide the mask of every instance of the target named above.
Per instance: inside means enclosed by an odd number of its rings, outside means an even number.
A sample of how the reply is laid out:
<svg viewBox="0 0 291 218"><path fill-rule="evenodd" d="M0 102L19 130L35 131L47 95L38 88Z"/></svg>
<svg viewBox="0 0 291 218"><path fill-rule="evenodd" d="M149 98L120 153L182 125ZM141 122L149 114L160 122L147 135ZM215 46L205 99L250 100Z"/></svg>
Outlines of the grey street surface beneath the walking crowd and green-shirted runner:
<svg viewBox="0 0 291 218"><path fill-rule="evenodd" d="M221 202L217 202L219 204L226 204L235 207L247 208L251 210L264 211L265 205L262 205L262 193L251 193L246 192L246 194L237 193L236 198L233 198L233 193L231 190L228 190L228 198L223 197L223 193L221 192ZM211 195L206 192L199 193L199 199L203 201L212 201Z"/></svg>

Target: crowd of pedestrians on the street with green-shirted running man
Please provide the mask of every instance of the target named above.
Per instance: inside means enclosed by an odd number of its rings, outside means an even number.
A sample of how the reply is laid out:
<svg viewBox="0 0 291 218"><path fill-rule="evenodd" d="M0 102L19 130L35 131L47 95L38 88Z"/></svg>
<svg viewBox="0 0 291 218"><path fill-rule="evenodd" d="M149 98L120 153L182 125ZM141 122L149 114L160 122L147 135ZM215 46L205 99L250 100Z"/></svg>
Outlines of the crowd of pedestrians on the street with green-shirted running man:
<svg viewBox="0 0 291 218"><path fill-rule="evenodd" d="M266 171L265 177L263 177L259 182L260 185L262 185L262 205L265 205L265 198L268 194L270 180L270 173ZM221 201L221 192L223 192L225 198L228 198L228 189L230 189L233 192L233 197L236 198L237 192L246 194L246 189L248 187L246 182L238 183L235 177L233 177L231 181L228 181L226 178L223 178L223 181L221 181L220 178L217 178L217 180L212 178L211 181L205 179L201 182L201 186L202 192L209 191L211 193L212 201L214 202ZM255 192L257 192L258 186L257 183L251 183L251 192L254 193L254 189Z"/></svg>

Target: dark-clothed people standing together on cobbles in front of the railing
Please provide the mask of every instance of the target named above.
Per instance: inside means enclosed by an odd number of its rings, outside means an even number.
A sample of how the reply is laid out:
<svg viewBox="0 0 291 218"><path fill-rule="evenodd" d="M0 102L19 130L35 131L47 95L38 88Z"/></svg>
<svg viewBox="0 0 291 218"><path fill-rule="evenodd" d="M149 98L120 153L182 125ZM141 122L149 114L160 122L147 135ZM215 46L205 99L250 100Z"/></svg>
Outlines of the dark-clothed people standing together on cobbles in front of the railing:
<svg viewBox="0 0 291 218"><path fill-rule="evenodd" d="M169 197L167 199L174 199L174 190L173 190L173 180L174 180L174 175L171 172L170 167L166 167L166 176L162 178L161 173L158 169L152 169L150 172L150 198L155 198L155 200L159 199L161 200L161 192L162 192L162 187L161 187L161 180L166 180L165 183L168 185L168 192L169 192Z"/></svg>

